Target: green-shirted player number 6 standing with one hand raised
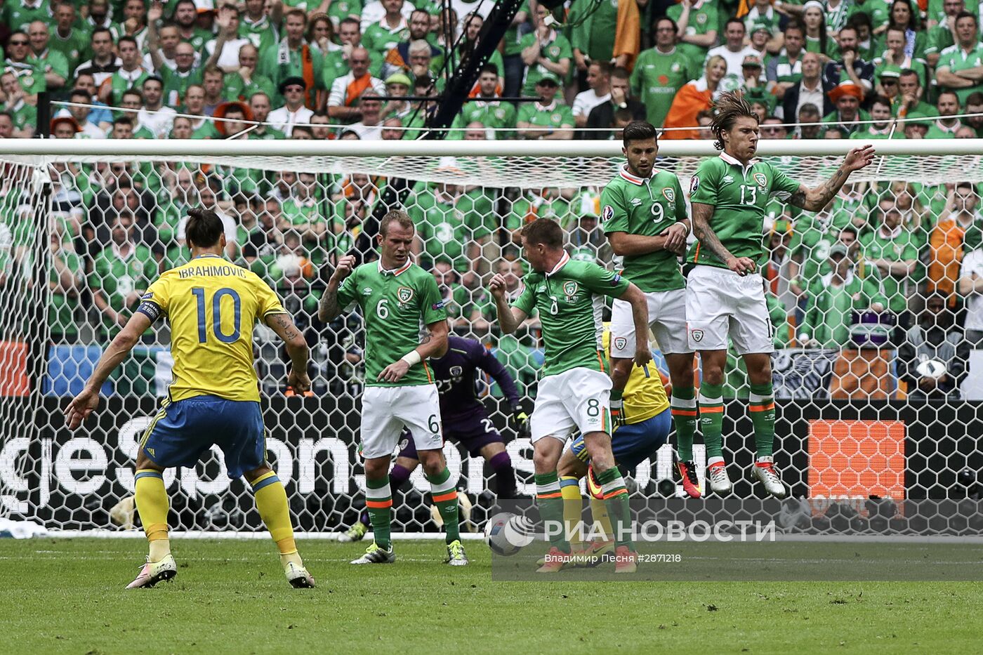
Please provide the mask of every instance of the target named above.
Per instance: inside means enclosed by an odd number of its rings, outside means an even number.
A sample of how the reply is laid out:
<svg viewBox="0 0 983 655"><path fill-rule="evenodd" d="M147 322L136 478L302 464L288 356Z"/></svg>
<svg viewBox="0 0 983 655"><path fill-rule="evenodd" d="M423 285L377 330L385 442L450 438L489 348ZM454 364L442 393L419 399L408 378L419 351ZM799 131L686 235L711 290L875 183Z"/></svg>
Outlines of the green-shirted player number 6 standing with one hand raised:
<svg viewBox="0 0 983 655"><path fill-rule="evenodd" d="M354 270L354 257L338 260L318 307L318 318L329 323L343 308L357 304L366 324L361 432L366 505L375 540L365 555L352 561L355 565L396 561L389 539L389 460L403 428L410 431L443 518L446 563L468 564L458 535L456 481L443 458L440 404L426 361L447 352L447 312L434 276L410 261L415 235L405 211L385 214L379 225L379 260ZM428 332L423 339L421 324Z"/></svg>

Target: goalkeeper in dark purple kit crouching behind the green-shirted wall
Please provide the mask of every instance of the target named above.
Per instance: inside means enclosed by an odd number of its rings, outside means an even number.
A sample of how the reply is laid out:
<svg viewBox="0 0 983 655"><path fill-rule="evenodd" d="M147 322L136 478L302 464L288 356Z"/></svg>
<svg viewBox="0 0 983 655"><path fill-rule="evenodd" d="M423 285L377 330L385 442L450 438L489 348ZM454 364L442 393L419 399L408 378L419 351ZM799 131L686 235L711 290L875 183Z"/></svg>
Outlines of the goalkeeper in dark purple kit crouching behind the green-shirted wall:
<svg viewBox="0 0 983 655"><path fill-rule="evenodd" d="M479 370L492 376L511 407L509 422L523 436L528 430L529 421L519 403L519 390L515 387L512 376L508 375L505 367L481 342L460 336L449 336L447 354L432 358L430 363L440 396L440 419L444 437L468 448L472 457L485 457L494 470L495 493L498 498L515 498L515 470L512 468L512 460L505 452L501 435L494 429L492 419L489 418L485 404L478 398L475 387L475 374ZM389 471L391 492L406 484L420 464L417 448L409 433L403 433L403 441L406 445L399 450L396 463ZM463 520L467 522L467 516ZM359 541L365 537L369 525L369 512L363 511L359 521L341 534L338 541Z"/></svg>

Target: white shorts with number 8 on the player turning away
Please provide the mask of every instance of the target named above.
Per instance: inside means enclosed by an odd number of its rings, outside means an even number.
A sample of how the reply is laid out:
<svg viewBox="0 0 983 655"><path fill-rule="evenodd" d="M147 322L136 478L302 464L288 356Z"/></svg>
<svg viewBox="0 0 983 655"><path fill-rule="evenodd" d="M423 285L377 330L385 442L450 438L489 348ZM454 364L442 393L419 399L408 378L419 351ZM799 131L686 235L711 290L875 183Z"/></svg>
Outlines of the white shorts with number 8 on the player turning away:
<svg viewBox="0 0 983 655"><path fill-rule="evenodd" d="M543 378L529 419L532 443L544 437L566 442L575 430L610 434L610 392L611 379L591 369L570 369Z"/></svg>

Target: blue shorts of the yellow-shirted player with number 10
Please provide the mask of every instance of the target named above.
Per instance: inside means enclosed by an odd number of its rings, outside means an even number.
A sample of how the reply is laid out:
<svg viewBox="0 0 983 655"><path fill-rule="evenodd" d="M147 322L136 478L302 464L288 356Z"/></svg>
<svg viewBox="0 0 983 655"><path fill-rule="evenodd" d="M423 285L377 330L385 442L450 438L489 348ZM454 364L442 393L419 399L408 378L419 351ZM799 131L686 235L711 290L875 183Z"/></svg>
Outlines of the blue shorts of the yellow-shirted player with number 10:
<svg viewBox="0 0 983 655"><path fill-rule="evenodd" d="M212 446L222 450L230 479L266 461L260 403L197 395L164 401L144 434L147 458L161 468L193 467Z"/></svg>

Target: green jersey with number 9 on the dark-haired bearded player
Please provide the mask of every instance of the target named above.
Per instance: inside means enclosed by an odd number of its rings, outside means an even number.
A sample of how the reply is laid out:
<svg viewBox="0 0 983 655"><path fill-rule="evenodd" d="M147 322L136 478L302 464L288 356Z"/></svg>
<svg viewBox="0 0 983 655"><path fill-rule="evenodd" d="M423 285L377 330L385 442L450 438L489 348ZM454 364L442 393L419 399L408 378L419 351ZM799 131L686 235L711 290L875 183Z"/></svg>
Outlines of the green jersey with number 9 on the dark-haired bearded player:
<svg viewBox="0 0 983 655"><path fill-rule="evenodd" d="M601 220L606 234L626 232L659 236L665 228L686 218L686 201L674 173L653 170L647 178L621 168L601 194ZM645 255L626 255L625 277L642 291L681 289L686 282L675 254L658 250Z"/></svg>

